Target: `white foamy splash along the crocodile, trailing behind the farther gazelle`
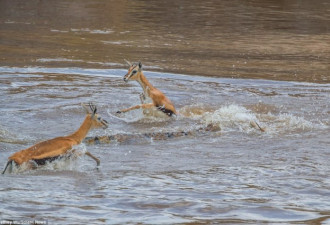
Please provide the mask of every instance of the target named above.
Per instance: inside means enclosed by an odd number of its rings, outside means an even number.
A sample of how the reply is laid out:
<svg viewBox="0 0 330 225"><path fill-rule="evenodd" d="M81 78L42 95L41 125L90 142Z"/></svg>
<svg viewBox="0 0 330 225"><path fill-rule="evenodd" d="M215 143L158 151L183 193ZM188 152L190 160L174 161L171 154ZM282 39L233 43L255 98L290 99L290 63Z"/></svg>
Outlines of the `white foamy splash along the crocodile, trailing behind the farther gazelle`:
<svg viewBox="0 0 330 225"><path fill-rule="evenodd" d="M249 108L254 108L255 110ZM163 135L164 132L191 132L201 127L212 125L212 127L218 127L218 130L221 130L222 133L242 132L246 134L258 134L261 130L265 131L265 134L273 136L300 134L313 129L328 128L325 124L312 122L301 116L277 112L275 106L267 106L267 108L275 109L273 110L274 112L260 109L256 110L256 108L260 107L245 107L237 104L229 104L214 109L203 104L188 105L178 110L179 115L175 119L177 120L176 122L179 123L179 126L170 126L163 130L150 128L150 130L154 133L154 136L157 136L156 133ZM109 115L126 123L139 122L148 124L167 122L166 120L172 119L157 117L155 115L145 116L142 111L139 110L131 114L121 115L120 117L112 115L111 113L109 113ZM146 131L144 130L143 133L146 133ZM114 131L110 136L113 134L132 135ZM142 132L140 134L142 134Z"/></svg>

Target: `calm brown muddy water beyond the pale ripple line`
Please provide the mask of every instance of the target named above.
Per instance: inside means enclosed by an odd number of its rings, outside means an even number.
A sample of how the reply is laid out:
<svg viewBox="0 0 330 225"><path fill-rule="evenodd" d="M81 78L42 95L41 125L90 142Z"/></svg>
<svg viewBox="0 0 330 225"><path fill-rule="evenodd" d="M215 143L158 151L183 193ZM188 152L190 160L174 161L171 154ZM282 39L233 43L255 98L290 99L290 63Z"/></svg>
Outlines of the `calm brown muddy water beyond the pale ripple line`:
<svg viewBox="0 0 330 225"><path fill-rule="evenodd" d="M3 66L121 68L328 83L330 3L1 1Z"/></svg>

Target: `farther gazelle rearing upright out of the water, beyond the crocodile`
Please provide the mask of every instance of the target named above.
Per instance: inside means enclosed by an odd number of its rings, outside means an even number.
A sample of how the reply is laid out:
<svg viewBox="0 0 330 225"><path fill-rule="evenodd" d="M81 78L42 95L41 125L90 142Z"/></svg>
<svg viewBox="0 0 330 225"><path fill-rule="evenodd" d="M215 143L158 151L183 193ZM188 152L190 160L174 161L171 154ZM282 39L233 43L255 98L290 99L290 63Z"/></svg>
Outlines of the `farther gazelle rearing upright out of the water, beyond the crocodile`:
<svg viewBox="0 0 330 225"><path fill-rule="evenodd" d="M124 81L128 82L129 80L137 81L142 89L143 93L140 94L141 104L132 106L127 109L122 109L117 111L117 113L125 113L134 109L150 109L155 108L168 116L172 116L173 114L177 114L174 105L172 102L157 88L152 86L152 84L147 80L142 72L142 64L139 62L138 64L131 64L127 60L125 60L129 65L129 69L127 74L124 76ZM151 103L146 103L146 98L151 98Z"/></svg>

